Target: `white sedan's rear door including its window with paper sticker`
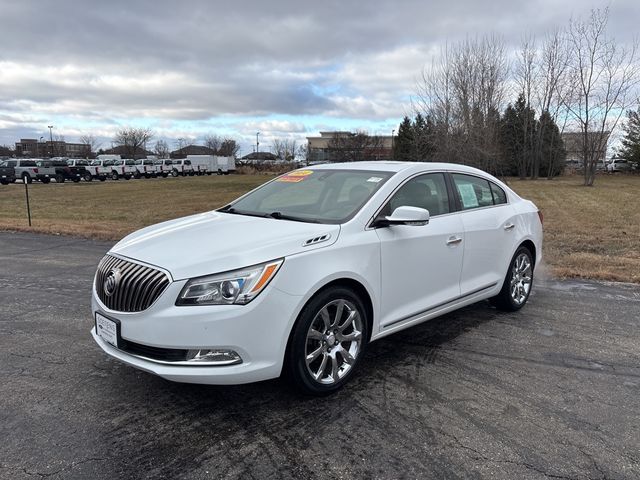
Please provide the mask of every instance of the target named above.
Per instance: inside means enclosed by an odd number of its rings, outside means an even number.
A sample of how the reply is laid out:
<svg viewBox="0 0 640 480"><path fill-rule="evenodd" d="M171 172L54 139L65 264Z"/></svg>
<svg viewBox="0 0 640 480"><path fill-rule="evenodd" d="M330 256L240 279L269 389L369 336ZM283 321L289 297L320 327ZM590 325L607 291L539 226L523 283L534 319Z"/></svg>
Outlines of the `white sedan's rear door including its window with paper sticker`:
<svg viewBox="0 0 640 480"><path fill-rule="evenodd" d="M464 226L460 294L501 284L517 238L516 213L497 184L479 176L452 173Z"/></svg>

